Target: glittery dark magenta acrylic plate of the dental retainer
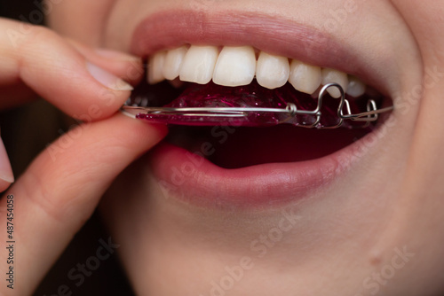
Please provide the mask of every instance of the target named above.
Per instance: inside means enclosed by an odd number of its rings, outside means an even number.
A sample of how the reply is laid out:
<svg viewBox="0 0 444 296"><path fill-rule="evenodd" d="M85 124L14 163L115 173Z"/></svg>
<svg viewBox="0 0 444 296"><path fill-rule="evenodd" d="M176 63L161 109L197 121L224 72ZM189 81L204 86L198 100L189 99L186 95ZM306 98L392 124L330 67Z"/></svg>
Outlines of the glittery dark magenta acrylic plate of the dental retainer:
<svg viewBox="0 0 444 296"><path fill-rule="evenodd" d="M358 112L359 108L354 103L354 99L349 97L353 113ZM210 82L205 85L190 84L190 86L173 100L166 107L261 107L261 108L281 108L285 109L288 103L297 106L297 110L313 111L318 105L318 100L310 95L306 95L295 90L289 83L276 90L268 90L253 81L247 86L229 88L219 86ZM335 126L338 123L337 108L339 100L326 96L321 108L321 126ZM206 116L205 114L139 114L140 119L148 121L159 121L163 123L189 125L189 126L274 126L282 121L295 126L313 125L316 121L312 115L297 115L291 117L289 113L247 113L243 117L224 116ZM351 128L355 126L353 121L345 121L343 127Z"/></svg>

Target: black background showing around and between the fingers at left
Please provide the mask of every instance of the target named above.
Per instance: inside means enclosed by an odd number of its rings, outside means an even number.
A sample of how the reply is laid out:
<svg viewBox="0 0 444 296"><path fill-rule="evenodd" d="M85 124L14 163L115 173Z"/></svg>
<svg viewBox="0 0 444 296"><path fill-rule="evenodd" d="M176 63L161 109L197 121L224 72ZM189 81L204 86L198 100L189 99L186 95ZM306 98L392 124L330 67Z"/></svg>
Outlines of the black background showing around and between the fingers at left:
<svg viewBox="0 0 444 296"><path fill-rule="evenodd" d="M0 17L28 19L28 21L36 22L38 16L43 15L38 3L40 3L38 0L0 0ZM44 21L38 25L44 25L43 23ZM65 115L41 99L0 113L1 136L10 156L16 179L28 167L36 154L41 152L47 144L52 143L63 130L67 130L69 125L70 121ZM76 281L68 279L67 274L70 269L76 269L78 263L84 264L90 256L95 255L100 238L107 241L109 235L100 222L99 214L95 213L68 245L34 295L59 295L58 289L62 284L70 287L72 295L134 295L116 253L112 254L107 261L101 261L99 268L92 271L90 277L85 277L81 286L75 286ZM20 250L20 245L18 245L18 250ZM20 252L18 255L18 260L20 260ZM33 264L33 262L27 263ZM25 271L18 270L18 273L20 272ZM16 282L15 284L24 283Z"/></svg>

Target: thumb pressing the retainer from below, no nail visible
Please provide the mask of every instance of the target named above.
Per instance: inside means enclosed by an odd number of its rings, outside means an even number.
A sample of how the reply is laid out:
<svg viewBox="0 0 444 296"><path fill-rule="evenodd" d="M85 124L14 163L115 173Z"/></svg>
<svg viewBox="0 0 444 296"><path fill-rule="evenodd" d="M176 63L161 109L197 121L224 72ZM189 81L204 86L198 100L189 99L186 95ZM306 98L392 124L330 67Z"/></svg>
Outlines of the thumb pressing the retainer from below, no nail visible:
<svg viewBox="0 0 444 296"><path fill-rule="evenodd" d="M14 239L20 261L15 269L20 270L20 285L14 289L16 295L31 294L116 175L165 134L162 126L118 113L71 130L37 157L7 191L17 206ZM4 215L0 220L5 221ZM5 290L0 285L0 294Z"/></svg>

